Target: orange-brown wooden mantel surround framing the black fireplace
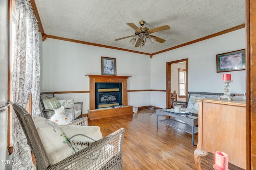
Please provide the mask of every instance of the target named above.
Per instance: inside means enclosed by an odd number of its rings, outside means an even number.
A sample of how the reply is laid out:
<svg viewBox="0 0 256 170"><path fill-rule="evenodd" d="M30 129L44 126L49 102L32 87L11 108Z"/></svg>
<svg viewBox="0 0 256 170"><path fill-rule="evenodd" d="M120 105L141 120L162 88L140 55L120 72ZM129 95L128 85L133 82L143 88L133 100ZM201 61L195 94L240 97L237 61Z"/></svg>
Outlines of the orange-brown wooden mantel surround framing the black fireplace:
<svg viewBox="0 0 256 170"><path fill-rule="evenodd" d="M89 119L90 119L90 113L97 114L97 111L95 110L96 108L95 83L101 83L101 82L122 83L122 103L124 106L128 106L127 79L131 76L88 75L88 74L86 76L90 78L90 110L88 110ZM109 115L109 117L110 116L111 115Z"/></svg>

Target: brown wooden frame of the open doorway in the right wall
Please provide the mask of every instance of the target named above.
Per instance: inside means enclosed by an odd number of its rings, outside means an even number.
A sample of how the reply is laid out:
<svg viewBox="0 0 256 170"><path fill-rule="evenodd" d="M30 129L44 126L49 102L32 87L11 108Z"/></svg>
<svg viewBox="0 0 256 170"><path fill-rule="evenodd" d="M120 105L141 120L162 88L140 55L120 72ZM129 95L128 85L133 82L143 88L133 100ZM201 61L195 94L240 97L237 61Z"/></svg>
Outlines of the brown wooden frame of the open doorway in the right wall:
<svg viewBox="0 0 256 170"><path fill-rule="evenodd" d="M171 86L172 86L172 64L185 63L186 78L185 78L185 97L188 100L188 59L171 61L166 63L166 108L171 107ZM178 82L178 80L177 80ZM177 90L176 90L177 91Z"/></svg>

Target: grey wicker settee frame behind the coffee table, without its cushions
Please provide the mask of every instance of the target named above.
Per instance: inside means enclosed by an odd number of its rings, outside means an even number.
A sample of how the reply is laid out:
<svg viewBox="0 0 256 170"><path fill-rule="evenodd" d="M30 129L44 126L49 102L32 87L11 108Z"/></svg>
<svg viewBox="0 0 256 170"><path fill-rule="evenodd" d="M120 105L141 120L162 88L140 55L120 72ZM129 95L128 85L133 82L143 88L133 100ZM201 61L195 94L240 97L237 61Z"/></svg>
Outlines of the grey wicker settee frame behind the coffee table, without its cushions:
<svg viewBox="0 0 256 170"><path fill-rule="evenodd" d="M222 96L223 93L210 93L210 92L188 92L188 101L190 96L195 96L199 98L219 98ZM230 96L234 96L234 94L230 94ZM181 106L181 108L188 107L188 102L181 102L181 101L173 101L173 107L174 106Z"/></svg>

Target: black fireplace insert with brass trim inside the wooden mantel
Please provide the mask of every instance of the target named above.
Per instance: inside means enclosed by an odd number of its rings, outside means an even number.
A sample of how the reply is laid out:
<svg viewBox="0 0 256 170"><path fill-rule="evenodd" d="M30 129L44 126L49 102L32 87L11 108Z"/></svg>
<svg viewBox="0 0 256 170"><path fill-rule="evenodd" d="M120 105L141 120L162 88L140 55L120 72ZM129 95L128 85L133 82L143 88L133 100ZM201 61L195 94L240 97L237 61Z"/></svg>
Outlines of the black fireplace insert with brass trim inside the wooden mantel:
<svg viewBox="0 0 256 170"><path fill-rule="evenodd" d="M122 83L95 83L95 108L122 105Z"/></svg>

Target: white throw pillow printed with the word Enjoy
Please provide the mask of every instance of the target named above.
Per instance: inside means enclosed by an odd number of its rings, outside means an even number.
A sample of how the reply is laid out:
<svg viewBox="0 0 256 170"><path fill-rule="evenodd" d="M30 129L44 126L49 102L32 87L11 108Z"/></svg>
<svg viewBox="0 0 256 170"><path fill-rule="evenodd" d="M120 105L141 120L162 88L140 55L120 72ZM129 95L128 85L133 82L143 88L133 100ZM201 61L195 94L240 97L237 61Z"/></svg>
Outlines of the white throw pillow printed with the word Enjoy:
<svg viewBox="0 0 256 170"><path fill-rule="evenodd" d="M102 139L98 126L60 125L60 127L68 137L75 153Z"/></svg>

